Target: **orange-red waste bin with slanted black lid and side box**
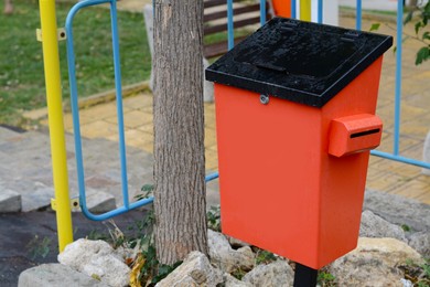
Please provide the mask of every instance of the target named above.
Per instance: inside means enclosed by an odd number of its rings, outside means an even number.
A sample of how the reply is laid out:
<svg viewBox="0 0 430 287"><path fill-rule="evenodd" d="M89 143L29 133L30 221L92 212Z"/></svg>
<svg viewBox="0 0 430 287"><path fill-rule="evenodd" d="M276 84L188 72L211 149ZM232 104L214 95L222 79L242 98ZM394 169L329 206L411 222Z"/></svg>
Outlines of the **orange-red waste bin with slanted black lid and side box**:
<svg viewBox="0 0 430 287"><path fill-rule="evenodd" d="M223 233L315 269L356 247L391 44L275 18L206 70Z"/></svg>

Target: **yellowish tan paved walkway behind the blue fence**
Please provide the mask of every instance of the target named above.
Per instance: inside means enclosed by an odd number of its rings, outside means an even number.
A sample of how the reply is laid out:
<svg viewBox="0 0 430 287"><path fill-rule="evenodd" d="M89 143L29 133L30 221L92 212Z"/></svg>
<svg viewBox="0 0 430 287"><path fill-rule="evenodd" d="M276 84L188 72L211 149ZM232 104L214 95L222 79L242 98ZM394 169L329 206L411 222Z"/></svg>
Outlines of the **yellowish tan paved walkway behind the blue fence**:
<svg viewBox="0 0 430 287"><path fill-rule="evenodd" d="M126 2L126 1L125 1ZM140 11L136 6L128 9ZM136 3L138 3L136 2ZM129 2L128 4L130 4ZM368 30L377 20L363 20L363 29ZM355 20L340 19L343 26L354 28ZM413 26L405 29L413 35ZM395 23L383 23L379 33L395 36ZM415 53L420 47L418 41L408 40L404 44L402 106L400 153L405 157L422 159L423 141L430 129L430 71L428 63L415 66ZM379 88L377 114L384 120L383 142L379 150L393 150L394 95L396 59L393 49L385 54ZM128 146L153 152L152 95L139 94L123 100L126 141ZM82 135L86 138L118 140L115 103L97 105L80 111ZM46 124L46 123L45 123ZM65 129L72 132L72 117L65 115ZM214 104L205 104L205 148L206 169L217 169L217 147L215 134ZM430 177L421 173L421 168L372 157L367 177L367 188L383 192L401 194L430 203Z"/></svg>

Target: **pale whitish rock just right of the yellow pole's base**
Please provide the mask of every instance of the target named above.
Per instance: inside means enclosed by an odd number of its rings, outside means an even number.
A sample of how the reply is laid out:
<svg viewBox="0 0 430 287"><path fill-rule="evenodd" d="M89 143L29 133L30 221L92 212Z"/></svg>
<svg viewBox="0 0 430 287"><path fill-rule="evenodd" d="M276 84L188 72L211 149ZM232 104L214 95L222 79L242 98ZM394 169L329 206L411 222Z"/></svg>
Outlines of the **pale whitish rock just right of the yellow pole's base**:
<svg viewBox="0 0 430 287"><path fill-rule="evenodd" d="M114 248L104 241L78 240L58 255L61 264L97 276L110 286L128 286L130 268Z"/></svg>

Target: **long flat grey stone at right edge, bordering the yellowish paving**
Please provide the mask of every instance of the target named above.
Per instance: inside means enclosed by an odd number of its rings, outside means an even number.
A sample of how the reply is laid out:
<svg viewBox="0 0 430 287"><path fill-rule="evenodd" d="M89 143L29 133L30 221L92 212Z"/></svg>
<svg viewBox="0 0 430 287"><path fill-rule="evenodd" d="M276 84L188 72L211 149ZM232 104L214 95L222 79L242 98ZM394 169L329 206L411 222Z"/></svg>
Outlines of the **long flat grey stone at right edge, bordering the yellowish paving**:
<svg viewBox="0 0 430 287"><path fill-rule="evenodd" d="M397 194L366 190L364 210L384 220L412 228L412 232L430 231L430 205Z"/></svg>

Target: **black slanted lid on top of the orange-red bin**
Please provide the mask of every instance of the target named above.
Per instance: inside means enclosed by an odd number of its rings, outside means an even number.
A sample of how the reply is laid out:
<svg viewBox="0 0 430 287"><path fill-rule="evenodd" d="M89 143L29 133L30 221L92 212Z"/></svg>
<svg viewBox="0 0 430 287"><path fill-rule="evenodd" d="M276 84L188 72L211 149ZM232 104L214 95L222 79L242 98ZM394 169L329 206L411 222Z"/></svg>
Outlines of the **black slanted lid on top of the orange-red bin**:
<svg viewBox="0 0 430 287"><path fill-rule="evenodd" d="M273 18L206 68L206 79L322 107L393 45L375 33Z"/></svg>

